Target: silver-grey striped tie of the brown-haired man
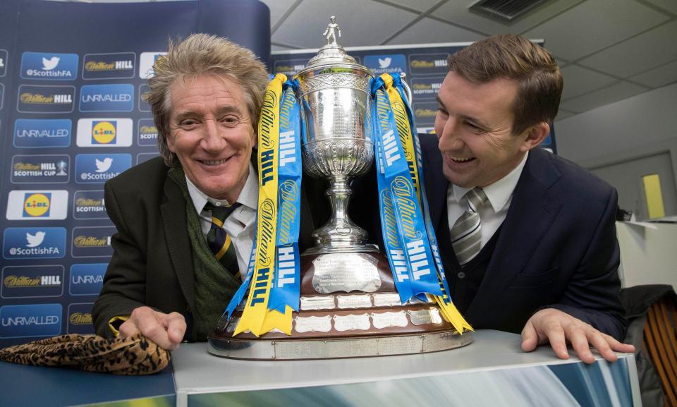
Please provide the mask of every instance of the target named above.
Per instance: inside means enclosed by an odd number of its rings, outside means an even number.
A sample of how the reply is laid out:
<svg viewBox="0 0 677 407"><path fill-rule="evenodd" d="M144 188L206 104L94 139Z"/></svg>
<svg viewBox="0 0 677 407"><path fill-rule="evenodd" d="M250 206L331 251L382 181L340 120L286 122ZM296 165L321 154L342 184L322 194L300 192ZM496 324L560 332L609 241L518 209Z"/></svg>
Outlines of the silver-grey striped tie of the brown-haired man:
<svg viewBox="0 0 677 407"><path fill-rule="evenodd" d="M473 188L465 193L465 199L468 200L468 209L456 219L451 228L451 245L461 265L465 265L480 253L482 224L477 210L487 202L487 195L482 188Z"/></svg>

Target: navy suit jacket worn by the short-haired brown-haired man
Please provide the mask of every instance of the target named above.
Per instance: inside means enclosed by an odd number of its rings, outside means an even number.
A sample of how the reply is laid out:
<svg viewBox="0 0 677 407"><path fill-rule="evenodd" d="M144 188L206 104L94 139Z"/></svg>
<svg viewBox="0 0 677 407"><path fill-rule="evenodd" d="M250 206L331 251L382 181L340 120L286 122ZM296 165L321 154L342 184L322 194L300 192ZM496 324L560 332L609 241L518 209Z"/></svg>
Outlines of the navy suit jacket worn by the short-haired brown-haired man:
<svg viewBox="0 0 677 407"><path fill-rule="evenodd" d="M420 135L420 141L430 214L451 277L460 270L443 216L449 181L437 138ZM558 308L623 339L617 198L579 166L531 150L482 284L463 313L472 327L518 333L540 308Z"/></svg>

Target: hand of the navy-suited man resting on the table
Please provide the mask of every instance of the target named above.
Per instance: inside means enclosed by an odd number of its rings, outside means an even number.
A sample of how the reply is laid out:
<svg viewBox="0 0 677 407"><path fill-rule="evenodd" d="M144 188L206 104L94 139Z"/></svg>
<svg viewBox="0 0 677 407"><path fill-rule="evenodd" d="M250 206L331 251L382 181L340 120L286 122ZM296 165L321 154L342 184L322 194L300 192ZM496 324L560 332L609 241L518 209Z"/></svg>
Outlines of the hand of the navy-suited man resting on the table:
<svg viewBox="0 0 677 407"><path fill-rule="evenodd" d="M580 360L585 363L594 363L590 346L594 346L609 362L618 359L614 351L628 353L635 351L635 346L621 344L611 336L594 329L590 324L554 308L536 312L522 330L522 349L526 352L533 351L536 346L547 344L548 341L560 359L569 358L566 350L568 341L578 353Z"/></svg>

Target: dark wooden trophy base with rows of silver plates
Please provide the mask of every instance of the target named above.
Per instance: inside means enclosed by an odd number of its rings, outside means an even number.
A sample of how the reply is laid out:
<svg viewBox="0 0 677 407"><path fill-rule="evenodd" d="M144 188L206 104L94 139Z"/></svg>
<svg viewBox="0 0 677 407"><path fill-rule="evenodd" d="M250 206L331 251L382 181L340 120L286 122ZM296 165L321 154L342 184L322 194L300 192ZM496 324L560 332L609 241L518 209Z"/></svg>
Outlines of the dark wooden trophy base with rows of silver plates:
<svg viewBox="0 0 677 407"><path fill-rule="evenodd" d="M472 342L441 316L433 300L401 303L386 257L365 250L306 252L301 256L300 305L291 335L273 329L233 336L243 305L219 321L209 353L234 359L357 358L445 351Z"/></svg>

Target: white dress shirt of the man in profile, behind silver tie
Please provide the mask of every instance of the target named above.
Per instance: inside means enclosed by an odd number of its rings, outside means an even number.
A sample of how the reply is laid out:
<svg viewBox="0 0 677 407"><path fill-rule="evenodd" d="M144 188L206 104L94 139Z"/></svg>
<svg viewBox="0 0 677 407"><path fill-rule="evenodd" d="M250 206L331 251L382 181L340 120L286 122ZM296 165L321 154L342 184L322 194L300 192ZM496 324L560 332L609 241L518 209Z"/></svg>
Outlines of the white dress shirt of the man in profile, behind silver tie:
<svg viewBox="0 0 677 407"><path fill-rule="evenodd" d="M480 229L482 243L480 247L484 248L484 245L489 242L506 219L510 202L513 199L513 191L517 186L517 181L520 180L520 175L524 169L524 164L527 162L528 155L529 152L524 154L520 164L513 171L510 171L508 175L482 188L491 205L485 203L480 207L480 222L482 223L482 228ZM456 223L456 219L461 217L465 210L468 209L468 201L463 198L463 195L471 189L461 188L449 183L449 189L446 191L446 208L450 231L453 224Z"/></svg>

